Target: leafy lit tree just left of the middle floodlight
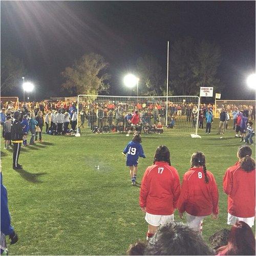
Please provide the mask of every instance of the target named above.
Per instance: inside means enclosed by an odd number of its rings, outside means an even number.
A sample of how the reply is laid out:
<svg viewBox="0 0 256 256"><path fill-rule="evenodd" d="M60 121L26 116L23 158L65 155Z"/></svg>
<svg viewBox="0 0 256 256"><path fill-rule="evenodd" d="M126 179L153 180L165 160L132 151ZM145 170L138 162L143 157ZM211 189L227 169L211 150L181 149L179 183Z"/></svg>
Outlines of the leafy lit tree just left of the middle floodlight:
<svg viewBox="0 0 256 256"><path fill-rule="evenodd" d="M97 95L101 91L108 91L110 75L105 73L108 65L99 54L84 54L75 60L72 67L61 73L66 79L62 88L70 89L77 94Z"/></svg>

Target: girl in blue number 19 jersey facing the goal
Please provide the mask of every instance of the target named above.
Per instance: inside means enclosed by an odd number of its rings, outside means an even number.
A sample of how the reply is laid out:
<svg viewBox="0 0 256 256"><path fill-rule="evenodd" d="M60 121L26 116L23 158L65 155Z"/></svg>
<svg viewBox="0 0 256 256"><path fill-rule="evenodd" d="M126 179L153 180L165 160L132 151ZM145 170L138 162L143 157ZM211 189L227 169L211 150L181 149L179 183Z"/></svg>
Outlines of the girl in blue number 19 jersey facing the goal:
<svg viewBox="0 0 256 256"><path fill-rule="evenodd" d="M132 185L136 184L136 177L138 171L138 159L139 157L146 158L143 152L140 134L136 134L133 140L130 141L124 148L122 154L127 156L126 166L130 168L130 176L132 180Z"/></svg>

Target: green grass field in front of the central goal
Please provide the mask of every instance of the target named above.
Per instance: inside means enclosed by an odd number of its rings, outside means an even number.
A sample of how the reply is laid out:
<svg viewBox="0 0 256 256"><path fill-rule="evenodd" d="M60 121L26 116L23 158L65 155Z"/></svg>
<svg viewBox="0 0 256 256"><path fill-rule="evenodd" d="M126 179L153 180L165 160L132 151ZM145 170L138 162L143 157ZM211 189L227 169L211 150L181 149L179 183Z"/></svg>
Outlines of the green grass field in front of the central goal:
<svg viewBox="0 0 256 256"><path fill-rule="evenodd" d="M216 129L211 135L204 130L200 134L202 139L142 135L146 159L139 161L138 182L152 164L158 145L169 147L172 165L181 179L190 166L191 154L203 151L220 192L219 219L204 221L207 241L212 233L227 227L222 178L227 167L237 161L241 144L230 130L223 139L215 135ZM19 235L18 243L9 246L10 254L125 254L129 244L145 238L147 225L138 205L139 187L131 185L121 155L131 137L43 134L43 139L44 143L22 148L19 162L24 169L15 171L12 150L3 150L2 138L3 181L12 224ZM179 220L177 212L175 218Z"/></svg>

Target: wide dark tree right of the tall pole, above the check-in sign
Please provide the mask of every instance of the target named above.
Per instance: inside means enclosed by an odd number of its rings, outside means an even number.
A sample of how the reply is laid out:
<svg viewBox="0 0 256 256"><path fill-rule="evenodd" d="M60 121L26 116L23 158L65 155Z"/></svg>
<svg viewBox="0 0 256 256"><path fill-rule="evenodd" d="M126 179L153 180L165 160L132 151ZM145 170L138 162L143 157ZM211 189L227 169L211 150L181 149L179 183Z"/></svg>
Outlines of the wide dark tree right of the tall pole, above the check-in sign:
<svg viewBox="0 0 256 256"><path fill-rule="evenodd" d="M170 87L178 95L196 95L200 86L218 88L220 49L191 37L174 42L170 51Z"/></svg>

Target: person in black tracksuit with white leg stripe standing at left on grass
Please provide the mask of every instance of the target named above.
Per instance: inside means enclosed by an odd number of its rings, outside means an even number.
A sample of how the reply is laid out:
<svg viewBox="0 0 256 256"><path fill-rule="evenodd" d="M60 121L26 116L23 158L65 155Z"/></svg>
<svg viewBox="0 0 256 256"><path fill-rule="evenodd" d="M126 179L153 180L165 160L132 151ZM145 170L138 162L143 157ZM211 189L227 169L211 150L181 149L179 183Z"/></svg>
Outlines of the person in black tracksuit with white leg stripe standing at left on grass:
<svg viewBox="0 0 256 256"><path fill-rule="evenodd" d="M19 122L20 113L15 111L13 113L13 124L11 126L11 139L13 142L13 169L22 169L22 165L18 164L18 157L20 148L22 147L23 136L27 135L27 133L23 132L22 124Z"/></svg>

